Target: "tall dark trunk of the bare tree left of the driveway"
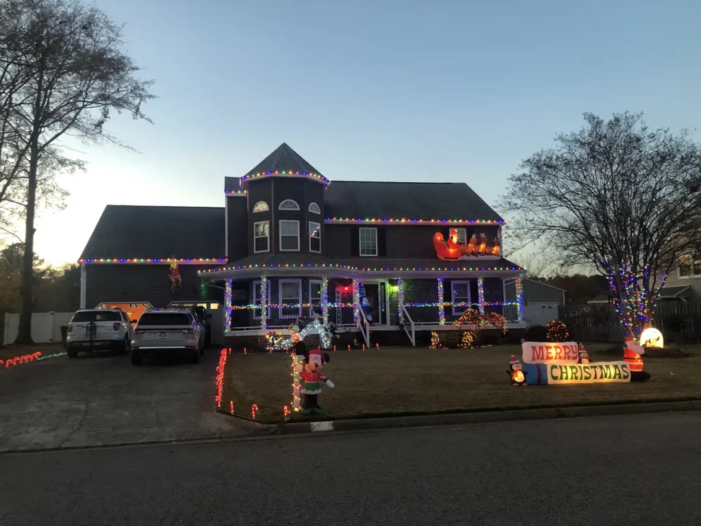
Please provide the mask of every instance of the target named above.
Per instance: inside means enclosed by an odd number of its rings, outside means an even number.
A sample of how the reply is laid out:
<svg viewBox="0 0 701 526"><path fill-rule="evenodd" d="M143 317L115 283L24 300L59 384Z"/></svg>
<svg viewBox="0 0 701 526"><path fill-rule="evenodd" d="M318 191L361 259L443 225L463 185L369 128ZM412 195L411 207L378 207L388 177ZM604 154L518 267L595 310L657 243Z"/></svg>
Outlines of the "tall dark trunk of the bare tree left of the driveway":
<svg viewBox="0 0 701 526"><path fill-rule="evenodd" d="M36 168L39 145L32 140L29 149L29 191L27 192L27 221L25 223L25 258L22 262L22 311L16 343L32 344L32 292L34 292L34 208L36 205Z"/></svg>

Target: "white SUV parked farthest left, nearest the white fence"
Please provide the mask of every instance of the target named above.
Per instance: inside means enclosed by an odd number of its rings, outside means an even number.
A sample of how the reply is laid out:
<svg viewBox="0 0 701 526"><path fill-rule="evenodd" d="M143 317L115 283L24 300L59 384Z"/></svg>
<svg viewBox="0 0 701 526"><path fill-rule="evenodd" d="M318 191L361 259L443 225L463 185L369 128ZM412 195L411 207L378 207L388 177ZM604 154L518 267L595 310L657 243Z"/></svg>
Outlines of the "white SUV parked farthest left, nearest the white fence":
<svg viewBox="0 0 701 526"><path fill-rule="evenodd" d="M80 351L116 349L126 353L130 349L133 326L121 309L81 309L68 324L66 350L75 358Z"/></svg>

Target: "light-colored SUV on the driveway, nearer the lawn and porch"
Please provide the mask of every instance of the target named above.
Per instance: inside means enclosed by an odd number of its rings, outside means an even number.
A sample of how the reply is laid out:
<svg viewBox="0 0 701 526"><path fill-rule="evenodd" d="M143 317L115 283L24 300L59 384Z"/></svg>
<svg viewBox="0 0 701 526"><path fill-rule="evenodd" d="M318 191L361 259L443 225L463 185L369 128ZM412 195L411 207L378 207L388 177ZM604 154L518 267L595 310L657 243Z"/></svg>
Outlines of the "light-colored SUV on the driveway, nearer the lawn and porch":
<svg viewBox="0 0 701 526"><path fill-rule="evenodd" d="M185 353L197 363L205 343L205 330L188 309L146 311L132 336L132 363L154 353Z"/></svg>

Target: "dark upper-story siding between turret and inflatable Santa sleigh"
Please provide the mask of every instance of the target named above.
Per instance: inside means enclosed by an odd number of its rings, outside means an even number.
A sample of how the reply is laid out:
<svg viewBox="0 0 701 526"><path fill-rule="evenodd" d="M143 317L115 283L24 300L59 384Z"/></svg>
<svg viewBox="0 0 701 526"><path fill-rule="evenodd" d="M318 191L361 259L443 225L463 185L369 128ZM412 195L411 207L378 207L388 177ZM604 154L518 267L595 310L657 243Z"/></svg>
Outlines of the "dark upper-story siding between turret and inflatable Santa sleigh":
<svg viewBox="0 0 701 526"><path fill-rule="evenodd" d="M327 224L326 254L327 257L351 257L358 255L358 230L362 225L355 224ZM384 231L386 257L435 257L433 246L433 234L442 232L444 238L448 237L449 227L438 225L367 225L378 229L378 240L382 240L380 231ZM491 242L496 238L498 227L494 225L484 227L460 227L465 228L468 239L472 234L477 238L484 233ZM382 256L382 247L379 247Z"/></svg>

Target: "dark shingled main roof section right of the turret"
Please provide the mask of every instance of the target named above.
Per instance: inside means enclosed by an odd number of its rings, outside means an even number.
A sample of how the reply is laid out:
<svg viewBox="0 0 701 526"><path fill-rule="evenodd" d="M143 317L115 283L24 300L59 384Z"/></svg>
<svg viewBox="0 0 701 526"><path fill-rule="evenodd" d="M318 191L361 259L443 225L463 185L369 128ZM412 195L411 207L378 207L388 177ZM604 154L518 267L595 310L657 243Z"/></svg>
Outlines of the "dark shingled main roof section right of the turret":
<svg viewBox="0 0 701 526"><path fill-rule="evenodd" d="M327 219L503 219L463 182L334 181L324 194Z"/></svg>

